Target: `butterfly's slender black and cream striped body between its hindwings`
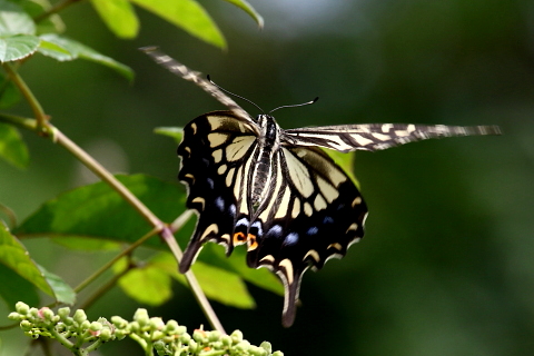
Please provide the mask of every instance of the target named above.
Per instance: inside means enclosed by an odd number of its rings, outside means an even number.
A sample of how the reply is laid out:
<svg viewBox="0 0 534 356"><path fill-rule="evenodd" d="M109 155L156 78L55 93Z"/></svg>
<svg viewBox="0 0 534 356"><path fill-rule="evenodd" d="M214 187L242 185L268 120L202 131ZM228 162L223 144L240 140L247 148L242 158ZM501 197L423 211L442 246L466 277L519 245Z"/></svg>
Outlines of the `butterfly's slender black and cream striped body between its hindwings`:
<svg viewBox="0 0 534 356"><path fill-rule="evenodd" d="M257 118L260 128L256 162L251 176L251 205L256 210L269 191L273 179L273 156L280 147L280 127L275 118L269 115L260 115Z"/></svg>

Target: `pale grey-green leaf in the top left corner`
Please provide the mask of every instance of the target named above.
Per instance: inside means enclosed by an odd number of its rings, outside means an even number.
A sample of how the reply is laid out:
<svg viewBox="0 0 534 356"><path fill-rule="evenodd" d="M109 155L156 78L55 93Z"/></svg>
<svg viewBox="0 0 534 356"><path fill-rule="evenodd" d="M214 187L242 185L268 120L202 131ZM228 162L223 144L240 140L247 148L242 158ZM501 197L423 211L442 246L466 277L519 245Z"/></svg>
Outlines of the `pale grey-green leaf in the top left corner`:
<svg viewBox="0 0 534 356"><path fill-rule="evenodd" d="M34 33L36 23L20 6L0 0L0 37Z"/></svg>

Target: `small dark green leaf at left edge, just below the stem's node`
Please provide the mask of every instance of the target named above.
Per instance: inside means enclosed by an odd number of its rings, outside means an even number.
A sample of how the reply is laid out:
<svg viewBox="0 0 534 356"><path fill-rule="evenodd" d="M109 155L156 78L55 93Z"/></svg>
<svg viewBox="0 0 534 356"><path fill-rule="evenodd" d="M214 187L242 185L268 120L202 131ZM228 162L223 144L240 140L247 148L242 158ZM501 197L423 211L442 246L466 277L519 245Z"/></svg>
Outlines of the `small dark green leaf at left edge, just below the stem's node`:
<svg viewBox="0 0 534 356"><path fill-rule="evenodd" d="M30 160L28 148L17 128L2 122L0 122L0 157L18 168L26 168Z"/></svg>

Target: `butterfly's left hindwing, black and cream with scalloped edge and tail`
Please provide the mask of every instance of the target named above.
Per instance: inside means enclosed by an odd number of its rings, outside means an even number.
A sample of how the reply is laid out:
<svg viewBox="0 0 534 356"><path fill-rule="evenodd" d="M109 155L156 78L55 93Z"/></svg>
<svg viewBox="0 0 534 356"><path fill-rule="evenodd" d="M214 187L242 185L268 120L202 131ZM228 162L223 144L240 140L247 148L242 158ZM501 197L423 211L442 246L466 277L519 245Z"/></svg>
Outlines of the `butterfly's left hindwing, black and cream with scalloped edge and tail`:
<svg viewBox="0 0 534 356"><path fill-rule="evenodd" d="M184 128L178 178L188 187L187 207L198 212L198 220L180 263L181 273L209 240L224 245L228 255L235 245L246 243L246 235L236 238L235 227L248 216L247 167L256 146L254 132L233 111L202 115Z"/></svg>

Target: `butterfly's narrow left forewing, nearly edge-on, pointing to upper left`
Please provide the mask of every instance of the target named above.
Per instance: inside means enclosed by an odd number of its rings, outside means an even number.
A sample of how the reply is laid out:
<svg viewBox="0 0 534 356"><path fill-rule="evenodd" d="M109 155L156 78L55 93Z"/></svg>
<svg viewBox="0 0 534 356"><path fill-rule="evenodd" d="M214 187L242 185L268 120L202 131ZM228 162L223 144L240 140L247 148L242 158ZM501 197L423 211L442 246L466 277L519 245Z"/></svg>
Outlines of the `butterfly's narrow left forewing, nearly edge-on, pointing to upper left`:
<svg viewBox="0 0 534 356"><path fill-rule="evenodd" d="M160 52L157 50L156 47L144 47L140 48L145 53L150 56L158 65L167 68L170 72L186 79L192 81L200 88L202 88L207 93L209 93L215 99L219 100L220 103L226 106L230 109L234 115L237 117L238 120L243 121L247 125L248 129L257 135L259 135L258 127L254 119L245 111L237 102L231 100L227 95L225 95L219 88L210 83L209 81L202 79L200 76L201 73L198 71L194 71L182 63L176 61L174 58Z"/></svg>

